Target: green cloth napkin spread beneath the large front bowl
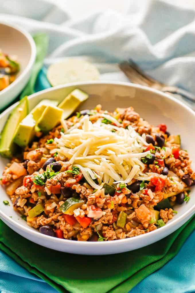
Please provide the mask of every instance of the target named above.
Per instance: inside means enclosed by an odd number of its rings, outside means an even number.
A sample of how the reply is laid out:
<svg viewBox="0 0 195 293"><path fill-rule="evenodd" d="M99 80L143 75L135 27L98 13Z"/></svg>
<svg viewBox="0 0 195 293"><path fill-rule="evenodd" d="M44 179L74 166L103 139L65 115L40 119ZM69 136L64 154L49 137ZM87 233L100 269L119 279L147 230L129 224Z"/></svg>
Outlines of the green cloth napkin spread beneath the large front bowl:
<svg viewBox="0 0 195 293"><path fill-rule="evenodd" d="M59 292L125 293L172 259L194 226L195 216L174 233L144 248L115 255L87 256L39 246L0 221L0 248Z"/></svg>

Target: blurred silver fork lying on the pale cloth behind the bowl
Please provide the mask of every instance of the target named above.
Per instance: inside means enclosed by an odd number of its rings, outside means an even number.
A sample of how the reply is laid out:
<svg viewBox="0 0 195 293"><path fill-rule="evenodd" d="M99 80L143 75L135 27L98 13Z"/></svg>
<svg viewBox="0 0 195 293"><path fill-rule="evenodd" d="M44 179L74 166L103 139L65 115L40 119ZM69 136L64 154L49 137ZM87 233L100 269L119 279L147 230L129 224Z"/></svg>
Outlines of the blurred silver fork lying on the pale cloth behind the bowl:
<svg viewBox="0 0 195 293"><path fill-rule="evenodd" d="M118 65L132 83L149 86L164 93L171 94L195 110L195 96L193 94L176 86L165 85L156 79L151 78L149 75L145 74L144 71L142 71L131 59L123 61Z"/></svg>

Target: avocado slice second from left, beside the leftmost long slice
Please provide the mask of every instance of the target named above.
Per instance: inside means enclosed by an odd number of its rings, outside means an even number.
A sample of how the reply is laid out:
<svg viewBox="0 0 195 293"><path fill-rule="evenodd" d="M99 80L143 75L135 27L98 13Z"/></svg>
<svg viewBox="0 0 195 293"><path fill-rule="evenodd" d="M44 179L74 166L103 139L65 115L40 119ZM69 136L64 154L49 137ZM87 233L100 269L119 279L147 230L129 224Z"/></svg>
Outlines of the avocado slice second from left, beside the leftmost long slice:
<svg viewBox="0 0 195 293"><path fill-rule="evenodd" d="M26 147L32 142L35 135L35 125L48 105L57 105L58 101L42 100L32 111L20 122L15 133L14 142L20 147Z"/></svg>

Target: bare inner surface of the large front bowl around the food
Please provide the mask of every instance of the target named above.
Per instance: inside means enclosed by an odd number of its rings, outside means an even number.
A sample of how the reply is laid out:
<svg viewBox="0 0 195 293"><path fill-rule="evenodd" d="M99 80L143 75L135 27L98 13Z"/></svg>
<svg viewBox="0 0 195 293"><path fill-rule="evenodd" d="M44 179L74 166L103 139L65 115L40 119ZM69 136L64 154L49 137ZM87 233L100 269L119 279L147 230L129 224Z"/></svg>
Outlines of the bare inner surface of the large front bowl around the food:
<svg viewBox="0 0 195 293"><path fill-rule="evenodd" d="M114 110L116 107L125 108L133 106L135 111L137 111L141 117L143 117L151 124L158 125L159 123L165 123L169 132L172 134L181 135L182 148L188 150L189 156L193 161L192 167L194 167L195 114L182 103L177 103L174 99L168 98L168 96L158 91L125 83L109 84L97 82L95 84L89 83L78 84L74 86L59 86L42 91L40 93L35 93L30 96L30 110L45 98L61 101L75 88L80 88L90 95L89 99L82 104L80 109L92 109L97 104L101 104L103 109L109 111ZM13 106L11 108L13 108ZM10 113L9 109L0 116L0 130L2 129ZM7 160L0 158L0 173L3 172L6 162ZM9 200L10 206L3 205L2 201L8 200L8 196L6 195L2 186L0 186L0 192L0 212L3 212L3 214L7 215L8 217L12 217L12 220L18 222L22 226L25 226L28 229L33 229L27 226L27 223L20 218L19 214L13 211L11 200ZM195 189L192 188L190 195L191 198L187 203L175 207L178 213L173 217L172 220L169 221L169 223L177 220L184 213L188 213L189 209L191 209L191 213L194 212ZM7 220L9 219L8 217ZM12 222L11 224L13 225L14 223ZM169 224L166 226L168 227ZM160 230L161 229L158 231L160 232ZM133 241L133 239L128 240ZM128 240L125 239L125 241Z"/></svg>

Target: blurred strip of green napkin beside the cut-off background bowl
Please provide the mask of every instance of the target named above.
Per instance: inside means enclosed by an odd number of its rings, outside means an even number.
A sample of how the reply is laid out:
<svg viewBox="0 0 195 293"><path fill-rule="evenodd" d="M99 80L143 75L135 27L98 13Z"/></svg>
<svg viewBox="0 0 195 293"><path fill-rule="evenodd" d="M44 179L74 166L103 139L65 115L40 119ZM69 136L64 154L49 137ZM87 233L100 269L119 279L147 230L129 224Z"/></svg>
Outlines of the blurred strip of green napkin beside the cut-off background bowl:
<svg viewBox="0 0 195 293"><path fill-rule="evenodd" d="M47 52L48 36L46 34L37 33L36 35L33 36L33 39L37 49L37 56L36 56L36 60L32 69L30 80L28 81L24 90L20 94L20 99L22 99L24 96L30 96L32 93L35 92L34 90L35 82L37 80L39 71L41 70L43 66L43 60Z"/></svg>

